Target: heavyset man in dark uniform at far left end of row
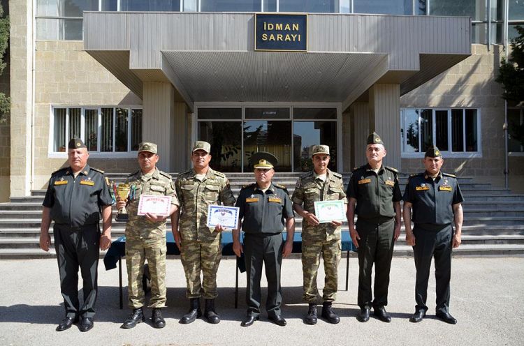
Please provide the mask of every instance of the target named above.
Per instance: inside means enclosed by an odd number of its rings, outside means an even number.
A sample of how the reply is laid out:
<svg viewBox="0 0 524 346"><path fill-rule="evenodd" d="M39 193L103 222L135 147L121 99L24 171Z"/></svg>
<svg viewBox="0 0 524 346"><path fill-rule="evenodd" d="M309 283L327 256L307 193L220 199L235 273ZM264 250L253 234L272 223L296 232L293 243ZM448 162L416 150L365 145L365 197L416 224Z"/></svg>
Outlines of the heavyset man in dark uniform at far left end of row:
<svg viewBox="0 0 524 346"><path fill-rule="evenodd" d="M78 138L68 143L69 167L51 175L45 193L40 247L48 251L49 227L54 220L54 248L57 251L60 289L66 317L57 331L80 321L80 331L93 328L99 248L111 246L111 204L109 181L100 170L87 165L87 147ZM99 221L103 226L100 233ZM84 303L78 301L78 268L82 273Z"/></svg>

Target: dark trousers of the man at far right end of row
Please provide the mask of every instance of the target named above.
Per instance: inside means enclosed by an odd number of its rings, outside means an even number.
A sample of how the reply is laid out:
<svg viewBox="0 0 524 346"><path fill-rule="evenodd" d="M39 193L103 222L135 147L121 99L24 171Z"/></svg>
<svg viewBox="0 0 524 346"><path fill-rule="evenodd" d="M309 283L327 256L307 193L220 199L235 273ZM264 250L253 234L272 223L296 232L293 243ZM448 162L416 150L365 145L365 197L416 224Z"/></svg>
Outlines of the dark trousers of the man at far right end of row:
<svg viewBox="0 0 524 346"><path fill-rule="evenodd" d="M428 279L431 259L435 257L435 283L437 285L437 313L449 312L449 282L451 280L451 253L453 246L453 227L449 225L420 225L413 228L415 246L416 311L427 311Z"/></svg>

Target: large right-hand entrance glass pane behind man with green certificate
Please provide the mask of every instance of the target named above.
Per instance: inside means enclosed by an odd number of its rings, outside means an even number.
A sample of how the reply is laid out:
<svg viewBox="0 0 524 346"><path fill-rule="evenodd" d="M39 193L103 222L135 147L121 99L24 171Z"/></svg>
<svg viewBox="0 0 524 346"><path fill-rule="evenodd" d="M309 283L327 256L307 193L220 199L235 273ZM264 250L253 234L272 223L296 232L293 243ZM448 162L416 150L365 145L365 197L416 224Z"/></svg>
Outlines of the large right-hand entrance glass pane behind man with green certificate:
<svg viewBox="0 0 524 346"><path fill-rule="evenodd" d="M335 121L295 121L293 123L293 170L307 172L313 169L310 155L312 145L329 146L328 168L337 170L337 123Z"/></svg>

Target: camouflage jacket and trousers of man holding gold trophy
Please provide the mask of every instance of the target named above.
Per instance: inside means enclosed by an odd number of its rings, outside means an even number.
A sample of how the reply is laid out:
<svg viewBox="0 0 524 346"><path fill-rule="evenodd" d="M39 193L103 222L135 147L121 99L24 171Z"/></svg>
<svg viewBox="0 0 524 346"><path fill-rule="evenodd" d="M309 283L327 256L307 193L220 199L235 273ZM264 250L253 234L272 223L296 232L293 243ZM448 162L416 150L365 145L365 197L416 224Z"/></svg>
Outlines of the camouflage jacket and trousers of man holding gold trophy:
<svg viewBox="0 0 524 346"><path fill-rule="evenodd" d="M140 195L171 196L171 204L179 205L171 176L155 168L152 174L142 171L130 174L126 183L135 186L136 192L127 206L129 221L126 225L126 264L129 280L129 307L144 305L142 276L147 259L151 274L150 308L166 306L166 221L152 223L138 216Z"/></svg>

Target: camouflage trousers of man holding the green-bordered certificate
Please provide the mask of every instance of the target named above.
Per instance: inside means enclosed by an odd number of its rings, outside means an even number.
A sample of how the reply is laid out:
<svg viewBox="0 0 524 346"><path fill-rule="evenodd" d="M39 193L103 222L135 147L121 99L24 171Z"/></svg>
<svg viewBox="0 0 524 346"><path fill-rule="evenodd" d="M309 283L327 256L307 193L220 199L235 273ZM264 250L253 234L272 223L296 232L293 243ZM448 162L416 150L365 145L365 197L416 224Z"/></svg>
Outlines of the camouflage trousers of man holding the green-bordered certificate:
<svg viewBox="0 0 524 346"><path fill-rule="evenodd" d="M338 263L342 253L340 239L330 241L302 241L302 270L304 275L303 299L316 303L319 290L316 288L316 274L319 272L320 256L324 262L323 301L335 301L338 289Z"/></svg>

